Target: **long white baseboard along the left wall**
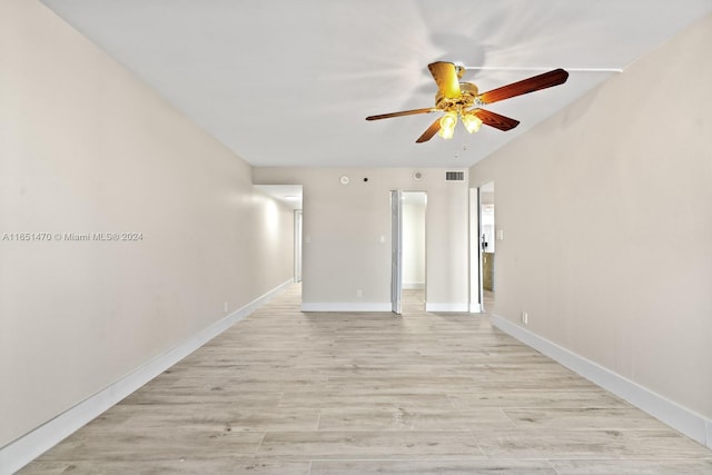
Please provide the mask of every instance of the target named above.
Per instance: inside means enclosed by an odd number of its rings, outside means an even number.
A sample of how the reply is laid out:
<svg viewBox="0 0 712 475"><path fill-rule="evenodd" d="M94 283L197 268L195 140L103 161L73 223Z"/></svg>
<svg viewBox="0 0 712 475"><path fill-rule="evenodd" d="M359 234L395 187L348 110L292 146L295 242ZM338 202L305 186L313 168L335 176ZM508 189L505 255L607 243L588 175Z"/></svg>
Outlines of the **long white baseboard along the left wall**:
<svg viewBox="0 0 712 475"><path fill-rule="evenodd" d="M265 305L270 298L291 284L293 279L289 279L275 287L261 297L191 336L178 347L154 358L128 376L0 448L0 474L12 474L19 471L146 383Z"/></svg>

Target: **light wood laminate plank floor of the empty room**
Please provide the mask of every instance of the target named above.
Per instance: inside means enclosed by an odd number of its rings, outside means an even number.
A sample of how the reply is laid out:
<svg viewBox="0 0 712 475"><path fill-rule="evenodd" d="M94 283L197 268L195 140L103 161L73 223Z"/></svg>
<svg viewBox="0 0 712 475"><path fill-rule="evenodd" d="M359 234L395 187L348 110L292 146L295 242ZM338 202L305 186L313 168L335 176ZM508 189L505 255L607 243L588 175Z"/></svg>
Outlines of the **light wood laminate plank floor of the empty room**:
<svg viewBox="0 0 712 475"><path fill-rule="evenodd" d="M299 291L20 473L712 474L711 451L486 314L426 314L419 291L402 317L303 314Z"/></svg>

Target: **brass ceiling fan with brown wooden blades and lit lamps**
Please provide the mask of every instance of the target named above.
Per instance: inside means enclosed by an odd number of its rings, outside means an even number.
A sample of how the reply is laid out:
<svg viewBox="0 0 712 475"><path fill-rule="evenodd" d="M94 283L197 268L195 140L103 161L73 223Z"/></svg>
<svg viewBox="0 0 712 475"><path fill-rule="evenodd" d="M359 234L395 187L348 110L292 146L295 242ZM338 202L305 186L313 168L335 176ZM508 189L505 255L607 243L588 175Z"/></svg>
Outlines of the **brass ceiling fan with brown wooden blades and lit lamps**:
<svg viewBox="0 0 712 475"><path fill-rule="evenodd" d="M437 83L435 93L435 107L425 109L403 110L400 112L368 116L366 120L388 119L390 117L413 116L416 113L445 112L435 120L431 127L416 140L417 144L428 141L439 135L444 139L453 138L455 126L459 117L469 133L479 130L479 127L494 127L500 130L511 130L520 125L518 120L485 110L484 105L497 102L512 97L522 96L553 86L563 85L568 78L568 72L563 69L554 69L543 75L533 76L511 85L502 86L487 92L479 93L477 86L472 82L459 82L465 73L465 67L453 62L437 61L427 66L431 75Z"/></svg>

